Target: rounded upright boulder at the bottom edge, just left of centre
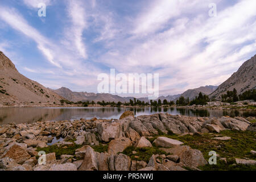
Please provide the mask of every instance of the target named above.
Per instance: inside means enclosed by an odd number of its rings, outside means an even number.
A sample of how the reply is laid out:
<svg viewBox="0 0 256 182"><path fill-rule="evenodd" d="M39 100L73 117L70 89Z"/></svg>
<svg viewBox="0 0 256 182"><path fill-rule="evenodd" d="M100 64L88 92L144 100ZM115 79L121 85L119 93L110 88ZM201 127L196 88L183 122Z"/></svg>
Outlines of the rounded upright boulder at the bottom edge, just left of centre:
<svg viewBox="0 0 256 182"><path fill-rule="evenodd" d="M115 171L130 171L131 159L124 154L115 156Z"/></svg>

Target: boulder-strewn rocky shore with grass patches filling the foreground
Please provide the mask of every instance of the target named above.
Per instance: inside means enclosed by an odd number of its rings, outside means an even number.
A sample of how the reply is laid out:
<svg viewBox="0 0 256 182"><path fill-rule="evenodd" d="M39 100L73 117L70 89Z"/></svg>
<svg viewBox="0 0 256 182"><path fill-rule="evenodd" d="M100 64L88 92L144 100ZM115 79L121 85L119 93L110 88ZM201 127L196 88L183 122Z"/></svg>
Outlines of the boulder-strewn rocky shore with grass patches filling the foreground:
<svg viewBox="0 0 256 182"><path fill-rule="evenodd" d="M200 171L214 169L207 162L208 152L214 149L221 163L220 170L241 167L240 162L256 162L254 153L250 154L254 150L255 123L249 121L255 117L208 118L161 113L135 118L133 112L125 111L120 118L0 126L0 161L10 163L5 166L10 171L16 167L22 171L59 168L64 171L92 168L97 171ZM239 152L237 142L240 150L242 147ZM233 147L225 147L230 144ZM39 151L46 152L46 165L38 165ZM110 162L113 163L110 165ZM230 162L234 164L231 167ZM253 166L246 169L254 170Z"/></svg>

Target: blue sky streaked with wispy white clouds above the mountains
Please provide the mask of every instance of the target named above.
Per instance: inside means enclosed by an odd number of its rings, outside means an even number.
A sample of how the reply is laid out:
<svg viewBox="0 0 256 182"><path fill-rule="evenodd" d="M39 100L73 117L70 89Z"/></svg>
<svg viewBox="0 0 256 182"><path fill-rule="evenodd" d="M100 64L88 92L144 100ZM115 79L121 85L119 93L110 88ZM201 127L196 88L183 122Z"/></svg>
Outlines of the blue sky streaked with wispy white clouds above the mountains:
<svg viewBox="0 0 256 182"><path fill-rule="evenodd" d="M52 89L97 93L115 69L159 73L167 96L236 72L256 53L255 20L255 0L1 0L0 50Z"/></svg>

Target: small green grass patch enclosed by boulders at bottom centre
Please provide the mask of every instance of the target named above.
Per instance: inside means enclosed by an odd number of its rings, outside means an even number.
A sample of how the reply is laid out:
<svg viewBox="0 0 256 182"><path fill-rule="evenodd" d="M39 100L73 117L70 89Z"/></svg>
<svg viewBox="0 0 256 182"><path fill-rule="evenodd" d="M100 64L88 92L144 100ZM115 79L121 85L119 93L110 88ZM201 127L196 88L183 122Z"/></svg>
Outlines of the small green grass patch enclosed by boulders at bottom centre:
<svg viewBox="0 0 256 182"><path fill-rule="evenodd" d="M136 154L133 154L133 151L136 151ZM164 154L169 155L167 152L159 150L158 147L145 147L145 148L135 148L134 146L127 147L122 154L130 156L131 160L143 160L144 162L148 163L151 156L153 154ZM139 158L136 159L135 156Z"/></svg>

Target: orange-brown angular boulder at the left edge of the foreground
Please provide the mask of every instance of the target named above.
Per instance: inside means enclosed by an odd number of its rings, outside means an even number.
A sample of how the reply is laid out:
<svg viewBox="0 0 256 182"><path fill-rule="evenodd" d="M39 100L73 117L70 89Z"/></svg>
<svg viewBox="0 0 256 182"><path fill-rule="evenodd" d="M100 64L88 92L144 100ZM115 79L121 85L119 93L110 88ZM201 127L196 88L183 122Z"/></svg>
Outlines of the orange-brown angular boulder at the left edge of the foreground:
<svg viewBox="0 0 256 182"><path fill-rule="evenodd" d="M1 158L5 157L14 159L17 163L23 163L31 156L28 154L26 150L24 150L24 148L14 144L13 146L9 147L1 156Z"/></svg>

